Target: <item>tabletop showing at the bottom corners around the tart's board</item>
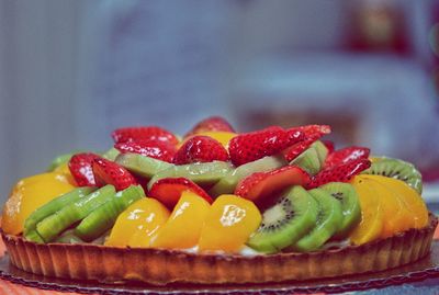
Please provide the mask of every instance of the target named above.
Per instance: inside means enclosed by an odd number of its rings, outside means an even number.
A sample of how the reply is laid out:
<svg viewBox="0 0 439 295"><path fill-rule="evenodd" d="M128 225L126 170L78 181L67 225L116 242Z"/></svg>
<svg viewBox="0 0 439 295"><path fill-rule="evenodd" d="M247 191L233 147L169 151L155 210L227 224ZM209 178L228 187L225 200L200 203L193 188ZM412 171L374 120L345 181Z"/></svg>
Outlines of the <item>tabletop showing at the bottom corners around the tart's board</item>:
<svg viewBox="0 0 439 295"><path fill-rule="evenodd" d="M439 239L439 227L436 229L435 239ZM0 257L4 254L4 245L0 240ZM435 287L435 290L432 290ZM431 293L429 293L431 291ZM371 290L363 292L349 292L346 294L358 294L358 295L372 295L372 294L438 294L439 292L439 277L426 280L415 284L404 284L399 286L390 286L383 290ZM0 294L11 295L77 295L77 293L65 293L56 291L45 291L33 287L26 287L19 284L11 283L5 280L0 280Z"/></svg>

